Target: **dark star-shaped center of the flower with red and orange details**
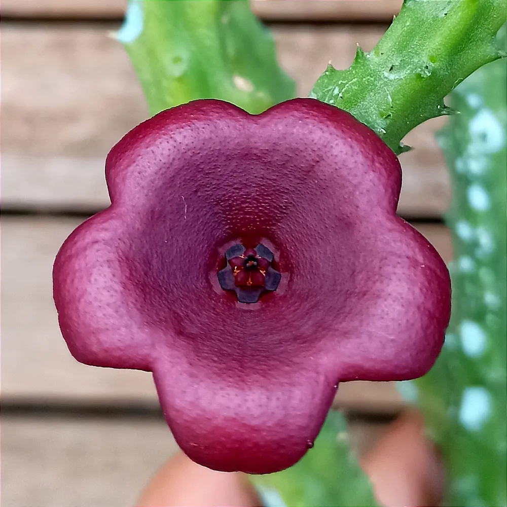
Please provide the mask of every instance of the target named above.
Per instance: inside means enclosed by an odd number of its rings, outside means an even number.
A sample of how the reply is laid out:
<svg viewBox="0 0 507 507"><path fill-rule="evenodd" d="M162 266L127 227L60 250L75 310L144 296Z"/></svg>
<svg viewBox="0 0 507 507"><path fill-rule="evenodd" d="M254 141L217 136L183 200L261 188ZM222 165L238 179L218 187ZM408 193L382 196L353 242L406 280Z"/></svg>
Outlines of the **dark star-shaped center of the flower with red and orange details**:
<svg viewBox="0 0 507 507"><path fill-rule="evenodd" d="M265 292L276 291L281 274L273 266L273 252L262 243L245 248L241 243L225 252L227 266L218 272L224 291L234 291L240 303L257 303Z"/></svg>

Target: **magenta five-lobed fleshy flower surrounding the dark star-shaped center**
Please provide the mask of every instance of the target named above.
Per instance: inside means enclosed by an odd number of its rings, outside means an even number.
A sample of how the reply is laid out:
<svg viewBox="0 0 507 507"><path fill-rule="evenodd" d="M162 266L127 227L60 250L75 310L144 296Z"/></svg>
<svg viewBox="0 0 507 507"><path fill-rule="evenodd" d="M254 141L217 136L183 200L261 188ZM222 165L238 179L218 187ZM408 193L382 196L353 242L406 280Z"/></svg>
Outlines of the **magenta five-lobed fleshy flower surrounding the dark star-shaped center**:
<svg viewBox="0 0 507 507"><path fill-rule="evenodd" d="M426 373L447 269L395 215L401 169L368 127L294 99L160 113L106 161L112 205L54 266L60 327L86 364L153 371L176 441L219 470L269 473L311 447L339 382ZM226 250L266 245L281 281L238 303Z"/></svg>

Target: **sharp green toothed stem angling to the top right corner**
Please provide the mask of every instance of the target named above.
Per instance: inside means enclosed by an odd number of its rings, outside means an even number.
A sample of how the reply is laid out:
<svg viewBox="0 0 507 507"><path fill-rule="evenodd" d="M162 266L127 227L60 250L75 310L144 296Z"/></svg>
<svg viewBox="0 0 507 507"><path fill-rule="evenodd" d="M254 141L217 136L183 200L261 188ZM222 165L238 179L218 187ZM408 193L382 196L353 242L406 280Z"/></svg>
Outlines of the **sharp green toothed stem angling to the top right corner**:
<svg viewBox="0 0 507 507"><path fill-rule="evenodd" d="M405 0L369 53L347 70L329 65L310 96L348 111L399 154L405 135L453 111L444 97L474 70L505 55L496 33L505 0Z"/></svg>

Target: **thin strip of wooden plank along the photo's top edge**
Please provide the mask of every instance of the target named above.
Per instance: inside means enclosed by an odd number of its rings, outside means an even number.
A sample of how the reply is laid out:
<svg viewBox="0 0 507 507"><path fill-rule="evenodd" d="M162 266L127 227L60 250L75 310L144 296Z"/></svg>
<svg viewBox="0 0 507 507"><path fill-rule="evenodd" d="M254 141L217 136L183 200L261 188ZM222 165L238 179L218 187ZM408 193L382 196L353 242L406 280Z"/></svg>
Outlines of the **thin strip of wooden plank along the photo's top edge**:
<svg viewBox="0 0 507 507"><path fill-rule="evenodd" d="M252 12L266 21L390 21L401 5L402 0L250 2ZM127 0L3 0L2 15L8 18L120 19L126 6Z"/></svg>

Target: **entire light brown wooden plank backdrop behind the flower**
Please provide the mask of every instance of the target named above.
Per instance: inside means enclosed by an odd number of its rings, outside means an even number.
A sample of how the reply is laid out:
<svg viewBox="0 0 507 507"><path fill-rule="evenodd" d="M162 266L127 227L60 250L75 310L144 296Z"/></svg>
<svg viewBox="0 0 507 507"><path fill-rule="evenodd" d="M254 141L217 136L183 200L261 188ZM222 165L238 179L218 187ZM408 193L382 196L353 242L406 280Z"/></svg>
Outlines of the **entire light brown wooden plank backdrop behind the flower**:
<svg viewBox="0 0 507 507"><path fill-rule="evenodd" d="M272 28L281 65L305 96L329 61L346 68L357 43L371 49L401 0L251 5ZM59 246L87 214L108 204L108 150L148 115L128 57L111 37L124 7L125 0L2 3L6 505L127 505L176 450L151 375L77 363L61 338L52 302ZM405 140L415 149L401 156L399 213L415 220L449 262L450 235L438 223L449 203L449 179L434 140L444 121L427 122ZM368 415L351 425L359 452L378 438L385 416L404 407L392 383L370 382L343 384L336 405Z"/></svg>

